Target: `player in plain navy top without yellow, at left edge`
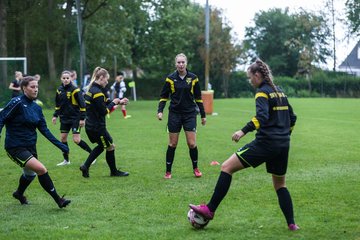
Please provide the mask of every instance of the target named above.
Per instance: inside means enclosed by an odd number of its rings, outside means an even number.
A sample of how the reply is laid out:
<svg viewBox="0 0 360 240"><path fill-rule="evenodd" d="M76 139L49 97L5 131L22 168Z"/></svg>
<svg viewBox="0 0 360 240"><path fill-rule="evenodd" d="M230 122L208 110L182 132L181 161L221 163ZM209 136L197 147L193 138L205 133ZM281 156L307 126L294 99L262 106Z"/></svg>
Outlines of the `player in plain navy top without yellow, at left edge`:
<svg viewBox="0 0 360 240"><path fill-rule="evenodd" d="M38 160L36 129L64 153L68 153L69 148L49 131L41 107L34 102L38 95L38 81L31 76L25 77L20 88L24 95L11 99L0 112L0 133L4 125L6 126L5 150L11 160L23 169L13 197L21 204L28 204L24 192L37 175L43 189L58 206L66 207L70 200L57 194L46 167Z"/></svg>

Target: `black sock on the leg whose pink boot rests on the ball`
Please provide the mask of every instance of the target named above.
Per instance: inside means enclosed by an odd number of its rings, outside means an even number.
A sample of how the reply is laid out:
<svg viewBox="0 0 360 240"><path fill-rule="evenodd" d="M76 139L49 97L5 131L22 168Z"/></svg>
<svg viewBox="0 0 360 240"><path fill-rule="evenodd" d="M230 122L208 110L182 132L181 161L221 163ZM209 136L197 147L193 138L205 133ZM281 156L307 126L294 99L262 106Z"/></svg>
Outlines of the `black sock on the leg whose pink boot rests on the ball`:
<svg viewBox="0 0 360 240"><path fill-rule="evenodd" d="M214 193L211 197L210 202L207 204L210 211L215 212L217 207L220 205L221 201L226 196L230 184L231 184L232 176L226 172L221 172L218 178L218 181L215 186Z"/></svg>

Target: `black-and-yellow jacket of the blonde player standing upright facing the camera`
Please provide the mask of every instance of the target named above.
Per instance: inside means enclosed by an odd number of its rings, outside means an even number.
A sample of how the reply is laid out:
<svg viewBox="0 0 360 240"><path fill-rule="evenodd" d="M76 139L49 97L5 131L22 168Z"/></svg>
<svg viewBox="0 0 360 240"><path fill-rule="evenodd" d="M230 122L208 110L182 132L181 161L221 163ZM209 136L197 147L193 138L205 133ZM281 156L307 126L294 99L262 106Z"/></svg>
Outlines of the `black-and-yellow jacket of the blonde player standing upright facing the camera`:
<svg viewBox="0 0 360 240"><path fill-rule="evenodd" d="M175 113L195 113L196 105L200 115L205 118L205 110L201 99L201 89L198 77L187 71L184 79L175 71L168 75L160 94L158 113L163 112L166 102L170 98L169 111Z"/></svg>

